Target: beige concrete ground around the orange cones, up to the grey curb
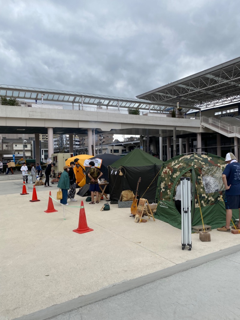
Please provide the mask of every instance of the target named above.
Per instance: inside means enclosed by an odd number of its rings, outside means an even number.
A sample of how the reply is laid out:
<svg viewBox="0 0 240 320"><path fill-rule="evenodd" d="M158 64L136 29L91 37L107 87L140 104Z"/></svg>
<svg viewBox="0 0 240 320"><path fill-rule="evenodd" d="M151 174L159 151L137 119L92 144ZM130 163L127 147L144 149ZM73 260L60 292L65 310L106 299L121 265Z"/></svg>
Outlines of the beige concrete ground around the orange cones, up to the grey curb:
<svg viewBox="0 0 240 320"><path fill-rule="evenodd" d="M78 202L64 207L64 212L54 201L58 212L45 213L49 191L56 197L57 184L36 187L40 202L35 203L29 202L31 193L21 196L21 190L22 180L0 180L1 320L127 284L240 244L240 235L212 230L211 242L201 242L199 234L192 234L192 251L182 251L181 230L160 220L136 224L129 217L130 208L111 204L110 211L100 211L105 201L90 205L85 197L76 196ZM78 226L82 199L88 226L94 231L79 235L72 230ZM145 305L141 297L138 300ZM135 294L129 303L132 308L138 305Z"/></svg>

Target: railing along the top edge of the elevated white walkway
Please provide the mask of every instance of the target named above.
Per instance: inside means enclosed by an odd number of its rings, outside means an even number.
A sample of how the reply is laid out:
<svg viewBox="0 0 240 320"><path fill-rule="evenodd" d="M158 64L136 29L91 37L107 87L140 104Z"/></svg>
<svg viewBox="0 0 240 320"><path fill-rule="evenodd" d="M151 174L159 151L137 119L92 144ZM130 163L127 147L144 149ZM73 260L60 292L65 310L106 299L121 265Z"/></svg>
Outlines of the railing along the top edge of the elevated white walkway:
<svg viewBox="0 0 240 320"><path fill-rule="evenodd" d="M0 100L0 105L6 105L7 103L5 101ZM78 105L64 105L64 104L46 104L46 103L34 103L34 102L26 102L26 101L17 101L12 106L15 107L28 107L28 108L44 108L44 109L62 109L62 110L78 110L78 111L88 111L88 112L109 112L109 113L116 113L116 114L126 114L128 115L129 112L127 109L119 109L109 107L106 108L104 106L101 107L87 107L87 106L82 106L81 104ZM139 110L139 115L140 116L158 116L158 117L167 117L171 118L171 114L167 113L159 113L159 112L150 112L147 110L140 111ZM185 116L185 115L176 115L176 118L181 118L181 119L191 119L191 120L199 120L200 117L196 116Z"/></svg>

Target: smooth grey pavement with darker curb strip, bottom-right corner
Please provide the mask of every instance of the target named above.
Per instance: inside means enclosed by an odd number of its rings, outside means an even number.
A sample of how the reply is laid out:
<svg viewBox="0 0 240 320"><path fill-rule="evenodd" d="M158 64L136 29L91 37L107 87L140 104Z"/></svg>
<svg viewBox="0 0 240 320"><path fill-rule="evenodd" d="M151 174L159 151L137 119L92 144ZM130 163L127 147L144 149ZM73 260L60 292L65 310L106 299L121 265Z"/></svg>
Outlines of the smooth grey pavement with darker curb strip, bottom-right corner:
<svg viewBox="0 0 240 320"><path fill-rule="evenodd" d="M239 319L240 245L18 320Z"/></svg>

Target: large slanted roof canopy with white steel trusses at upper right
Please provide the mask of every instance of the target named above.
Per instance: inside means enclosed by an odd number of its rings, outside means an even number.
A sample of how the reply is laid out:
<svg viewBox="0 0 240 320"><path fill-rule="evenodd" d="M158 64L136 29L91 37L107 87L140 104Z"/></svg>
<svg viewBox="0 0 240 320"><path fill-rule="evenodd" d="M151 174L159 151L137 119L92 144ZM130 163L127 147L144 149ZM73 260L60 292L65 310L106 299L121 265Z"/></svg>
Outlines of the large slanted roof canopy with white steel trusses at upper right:
<svg viewBox="0 0 240 320"><path fill-rule="evenodd" d="M137 98L175 107L179 102L183 111L184 106L204 110L239 102L240 57L140 94Z"/></svg>

